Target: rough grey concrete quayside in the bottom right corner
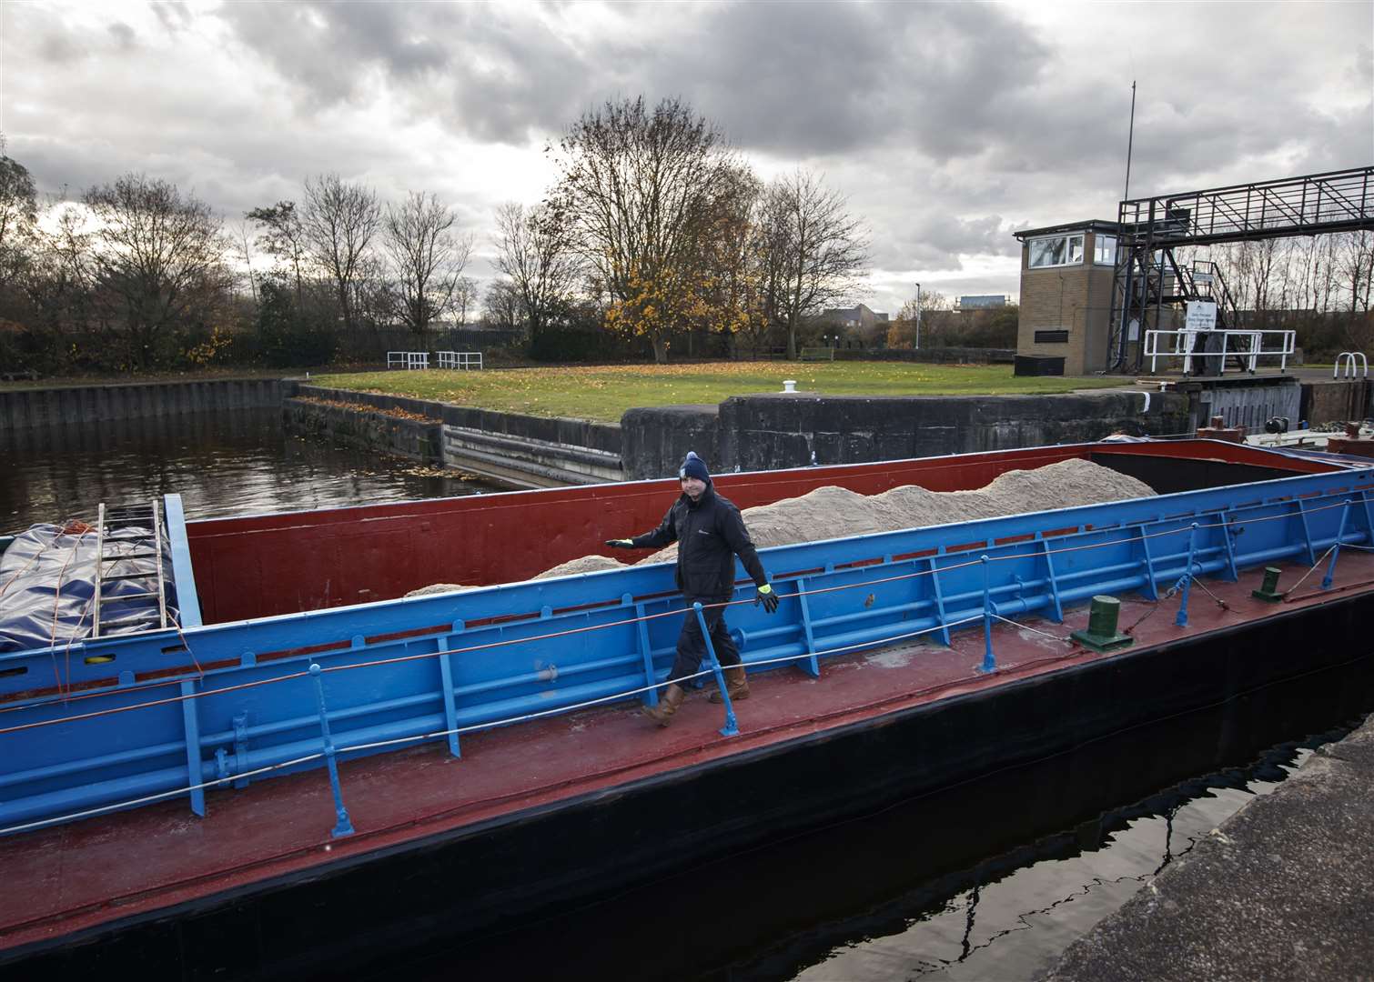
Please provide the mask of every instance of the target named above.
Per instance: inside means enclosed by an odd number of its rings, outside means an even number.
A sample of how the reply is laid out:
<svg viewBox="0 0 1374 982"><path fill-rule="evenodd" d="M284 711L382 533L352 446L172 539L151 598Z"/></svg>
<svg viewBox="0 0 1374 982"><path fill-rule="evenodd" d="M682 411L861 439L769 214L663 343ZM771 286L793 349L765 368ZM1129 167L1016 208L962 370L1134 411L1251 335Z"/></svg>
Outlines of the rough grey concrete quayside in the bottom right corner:
<svg viewBox="0 0 1374 982"><path fill-rule="evenodd" d="M1374 979L1374 717L1227 819L1040 978Z"/></svg>

